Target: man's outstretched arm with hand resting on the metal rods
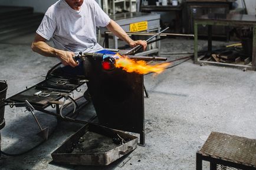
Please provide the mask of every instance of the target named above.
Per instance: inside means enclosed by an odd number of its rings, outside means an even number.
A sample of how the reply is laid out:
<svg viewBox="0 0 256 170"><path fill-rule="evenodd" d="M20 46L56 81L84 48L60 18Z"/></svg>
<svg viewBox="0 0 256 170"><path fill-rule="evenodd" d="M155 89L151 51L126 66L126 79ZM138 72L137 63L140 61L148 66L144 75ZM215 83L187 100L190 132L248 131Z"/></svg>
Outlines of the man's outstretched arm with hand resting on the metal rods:
<svg viewBox="0 0 256 170"><path fill-rule="evenodd" d="M147 42L142 40L133 41L129 35L126 34L126 32L123 30L123 28L118 25L116 22L114 22L112 19L110 20L109 24L106 26L109 31L111 31L114 35L116 35L118 38L122 39L123 41L126 41L127 44L129 44L131 47L134 47L136 45L142 45L143 49L145 50L147 47Z"/></svg>

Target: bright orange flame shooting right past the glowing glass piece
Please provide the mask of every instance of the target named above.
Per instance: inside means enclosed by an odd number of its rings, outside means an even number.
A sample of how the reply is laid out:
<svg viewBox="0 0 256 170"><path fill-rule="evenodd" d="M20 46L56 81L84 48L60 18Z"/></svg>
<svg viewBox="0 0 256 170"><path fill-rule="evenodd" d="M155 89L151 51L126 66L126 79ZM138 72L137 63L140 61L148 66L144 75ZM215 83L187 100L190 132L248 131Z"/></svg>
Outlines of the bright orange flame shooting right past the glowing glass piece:
<svg viewBox="0 0 256 170"><path fill-rule="evenodd" d="M116 68L122 68L124 71L136 72L138 74L147 74L149 72L160 74L170 65L170 63L147 65L146 61L136 61L135 59L130 59L127 56L122 56L120 54L114 56L117 57Z"/></svg>

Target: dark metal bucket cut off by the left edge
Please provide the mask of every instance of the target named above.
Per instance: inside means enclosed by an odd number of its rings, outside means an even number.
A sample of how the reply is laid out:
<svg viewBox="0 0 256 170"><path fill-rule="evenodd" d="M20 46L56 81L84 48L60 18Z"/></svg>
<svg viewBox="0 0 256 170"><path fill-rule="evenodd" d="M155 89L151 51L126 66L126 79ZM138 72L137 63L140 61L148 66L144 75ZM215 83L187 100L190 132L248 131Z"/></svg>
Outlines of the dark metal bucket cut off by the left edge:
<svg viewBox="0 0 256 170"><path fill-rule="evenodd" d="M4 100L6 98L7 88L8 88L8 85L6 84L6 81L0 81L0 129L4 128L5 126L5 119L4 119L5 107L3 105L4 105Z"/></svg>

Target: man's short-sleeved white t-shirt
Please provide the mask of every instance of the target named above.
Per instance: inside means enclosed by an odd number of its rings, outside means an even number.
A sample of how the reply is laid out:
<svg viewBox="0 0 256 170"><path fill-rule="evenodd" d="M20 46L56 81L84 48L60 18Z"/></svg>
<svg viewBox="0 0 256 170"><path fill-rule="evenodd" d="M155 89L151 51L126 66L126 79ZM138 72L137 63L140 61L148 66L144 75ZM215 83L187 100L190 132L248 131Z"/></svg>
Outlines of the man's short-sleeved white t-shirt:
<svg viewBox="0 0 256 170"><path fill-rule="evenodd" d="M54 43L55 48L72 52L96 52L96 26L107 26L109 16L94 0L84 0L80 11L72 9L65 0L48 8L37 29L37 34Z"/></svg>

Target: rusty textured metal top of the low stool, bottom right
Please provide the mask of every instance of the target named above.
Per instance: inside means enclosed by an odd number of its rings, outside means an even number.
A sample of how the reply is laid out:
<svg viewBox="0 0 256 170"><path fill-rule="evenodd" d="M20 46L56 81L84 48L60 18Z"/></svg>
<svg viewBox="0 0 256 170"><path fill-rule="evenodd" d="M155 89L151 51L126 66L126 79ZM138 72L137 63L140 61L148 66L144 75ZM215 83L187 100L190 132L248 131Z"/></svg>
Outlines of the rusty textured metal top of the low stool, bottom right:
<svg viewBox="0 0 256 170"><path fill-rule="evenodd" d="M199 154L256 167L256 139L212 132Z"/></svg>

